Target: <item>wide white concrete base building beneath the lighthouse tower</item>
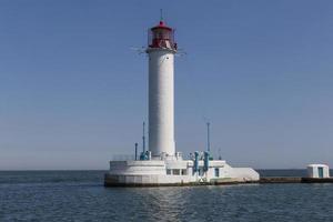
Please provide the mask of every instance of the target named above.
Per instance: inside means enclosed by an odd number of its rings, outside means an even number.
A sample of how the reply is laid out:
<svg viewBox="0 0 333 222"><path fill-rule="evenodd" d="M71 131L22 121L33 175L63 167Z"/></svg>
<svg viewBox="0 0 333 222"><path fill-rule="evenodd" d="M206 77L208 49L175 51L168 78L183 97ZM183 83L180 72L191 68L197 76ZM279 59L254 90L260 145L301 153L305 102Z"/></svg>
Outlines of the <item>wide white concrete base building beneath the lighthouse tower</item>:
<svg viewBox="0 0 333 222"><path fill-rule="evenodd" d="M186 185L254 182L260 175L251 168L231 168L223 160L211 160L204 172L203 161L194 171L192 160L110 161L107 186Z"/></svg>

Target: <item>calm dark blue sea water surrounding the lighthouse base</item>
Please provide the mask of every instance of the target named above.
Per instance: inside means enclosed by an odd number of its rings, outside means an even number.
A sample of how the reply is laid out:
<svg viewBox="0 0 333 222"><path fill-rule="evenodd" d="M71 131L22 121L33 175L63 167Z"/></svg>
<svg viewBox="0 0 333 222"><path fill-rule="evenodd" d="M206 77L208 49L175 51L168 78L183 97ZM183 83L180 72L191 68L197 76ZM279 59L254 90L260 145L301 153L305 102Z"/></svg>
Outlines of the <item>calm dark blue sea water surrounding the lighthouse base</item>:
<svg viewBox="0 0 333 222"><path fill-rule="evenodd" d="M333 221L333 184L104 188L103 174L2 171L0 221Z"/></svg>

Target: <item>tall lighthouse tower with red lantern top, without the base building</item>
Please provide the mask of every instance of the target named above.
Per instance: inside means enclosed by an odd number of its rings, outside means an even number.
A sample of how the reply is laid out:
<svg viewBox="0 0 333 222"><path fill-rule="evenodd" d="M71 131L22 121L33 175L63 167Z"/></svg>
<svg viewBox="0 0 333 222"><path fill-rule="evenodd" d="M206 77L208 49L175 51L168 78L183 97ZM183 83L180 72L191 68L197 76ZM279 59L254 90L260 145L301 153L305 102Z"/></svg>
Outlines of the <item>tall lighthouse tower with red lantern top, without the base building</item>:
<svg viewBox="0 0 333 222"><path fill-rule="evenodd" d="M149 151L174 155L174 29L160 23L149 30Z"/></svg>

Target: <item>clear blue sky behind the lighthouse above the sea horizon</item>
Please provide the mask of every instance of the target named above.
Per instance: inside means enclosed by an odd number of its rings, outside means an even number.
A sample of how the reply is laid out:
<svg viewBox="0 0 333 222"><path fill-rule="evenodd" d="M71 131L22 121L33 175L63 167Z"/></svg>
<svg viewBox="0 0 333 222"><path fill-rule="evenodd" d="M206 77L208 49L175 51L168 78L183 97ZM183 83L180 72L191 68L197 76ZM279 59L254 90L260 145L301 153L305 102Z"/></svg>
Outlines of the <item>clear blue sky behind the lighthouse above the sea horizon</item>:
<svg viewBox="0 0 333 222"><path fill-rule="evenodd" d="M175 139L232 165L333 167L333 2L0 1L0 170L108 169L141 144L160 8L175 63Z"/></svg>

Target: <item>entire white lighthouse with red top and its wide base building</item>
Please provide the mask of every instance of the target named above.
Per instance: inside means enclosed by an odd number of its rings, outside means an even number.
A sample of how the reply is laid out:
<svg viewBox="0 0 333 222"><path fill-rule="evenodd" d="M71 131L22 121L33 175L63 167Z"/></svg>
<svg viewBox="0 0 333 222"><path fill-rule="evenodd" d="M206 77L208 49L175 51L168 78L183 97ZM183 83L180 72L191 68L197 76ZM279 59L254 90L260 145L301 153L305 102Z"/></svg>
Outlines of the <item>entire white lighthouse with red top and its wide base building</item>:
<svg viewBox="0 0 333 222"><path fill-rule="evenodd" d="M150 29L149 46L149 150L140 160L110 161L105 185L173 185L251 182L259 173L251 168L231 168L195 152L183 160L174 144L174 30L163 21Z"/></svg>

